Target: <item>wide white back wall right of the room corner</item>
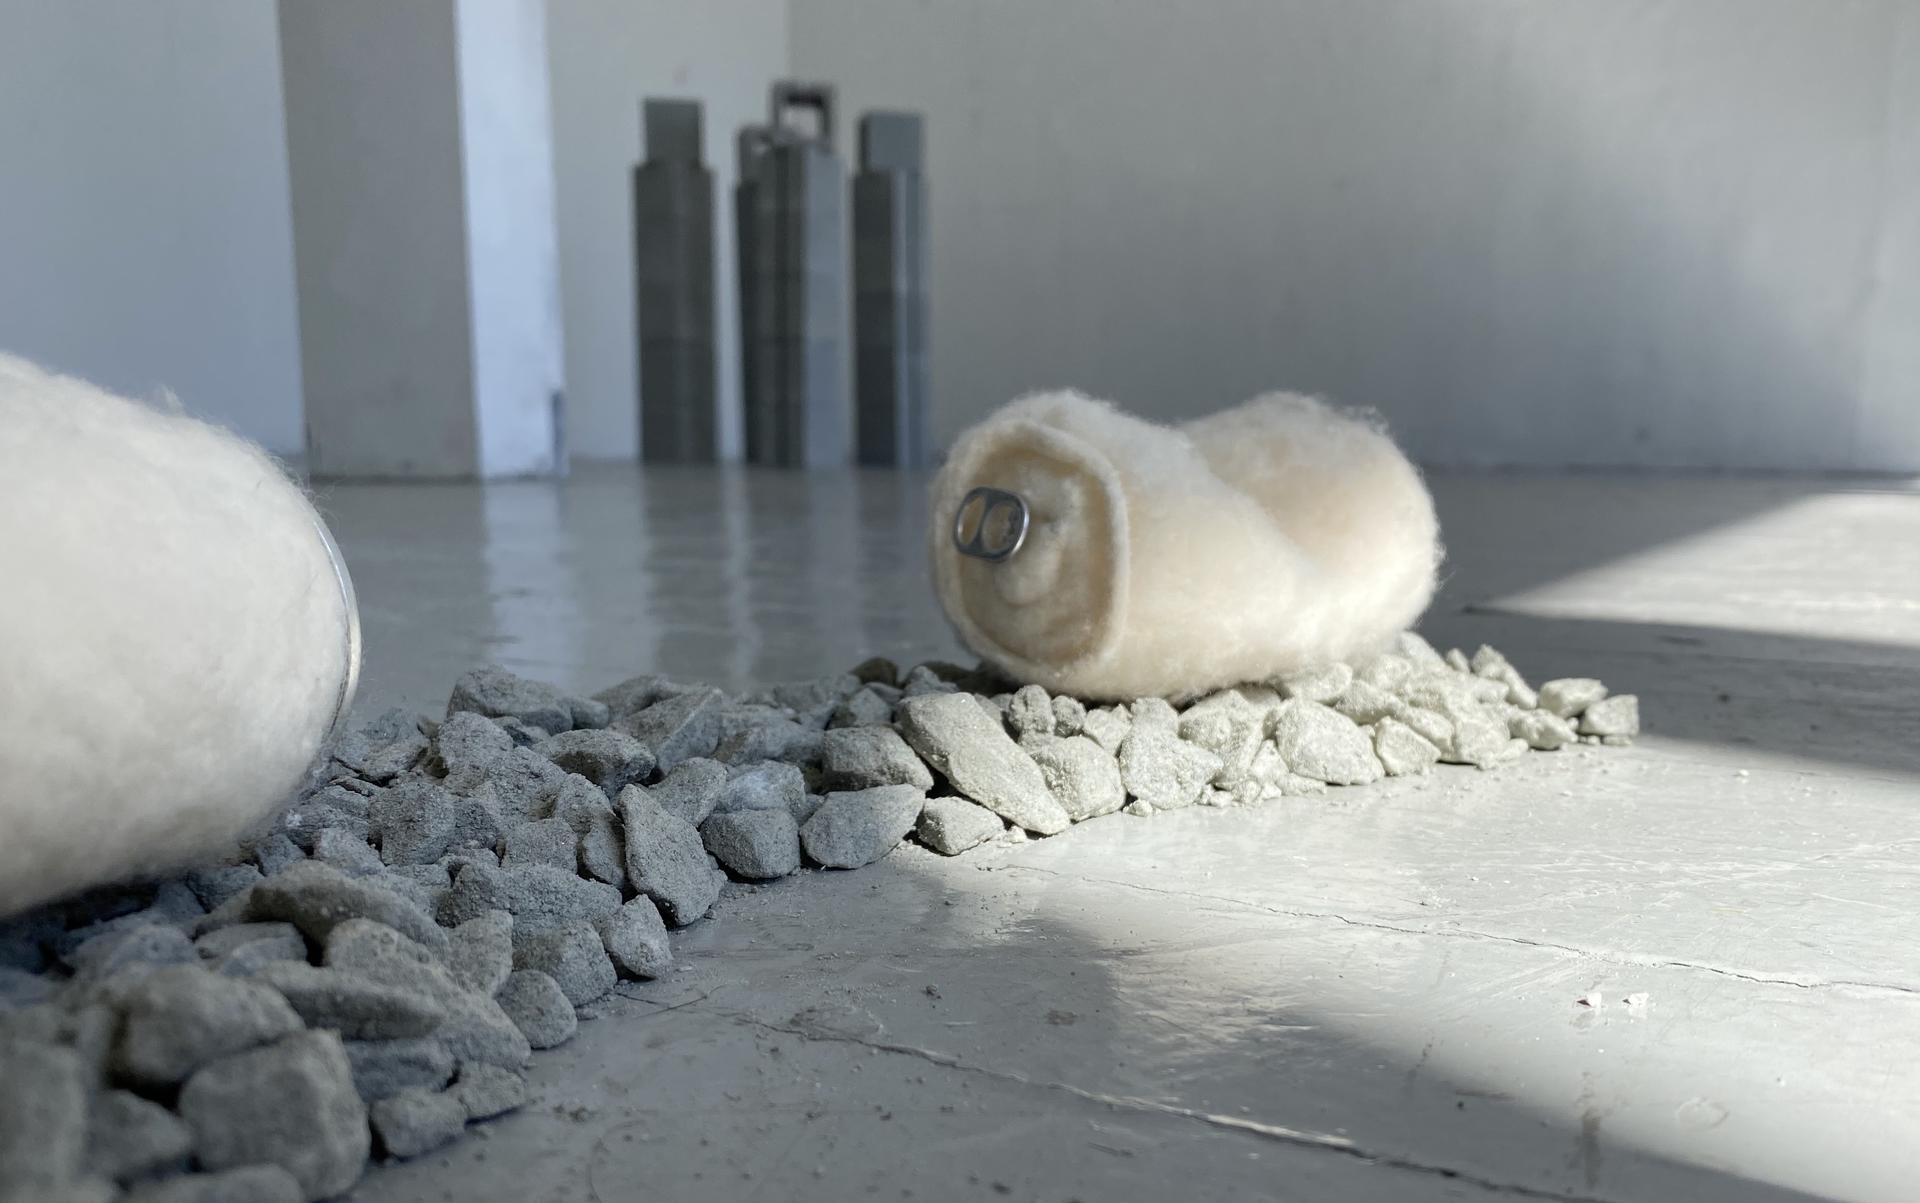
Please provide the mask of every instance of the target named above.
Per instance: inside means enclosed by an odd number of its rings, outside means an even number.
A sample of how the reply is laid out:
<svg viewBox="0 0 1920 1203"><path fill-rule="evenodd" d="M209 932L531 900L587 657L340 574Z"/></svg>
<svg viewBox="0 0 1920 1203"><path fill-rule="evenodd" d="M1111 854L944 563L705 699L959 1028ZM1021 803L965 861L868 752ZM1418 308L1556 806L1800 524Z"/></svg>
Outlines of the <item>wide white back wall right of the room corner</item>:
<svg viewBox="0 0 1920 1203"><path fill-rule="evenodd" d="M1901 0L795 0L927 113L933 403L1267 388L1471 464L1920 468Z"/></svg>

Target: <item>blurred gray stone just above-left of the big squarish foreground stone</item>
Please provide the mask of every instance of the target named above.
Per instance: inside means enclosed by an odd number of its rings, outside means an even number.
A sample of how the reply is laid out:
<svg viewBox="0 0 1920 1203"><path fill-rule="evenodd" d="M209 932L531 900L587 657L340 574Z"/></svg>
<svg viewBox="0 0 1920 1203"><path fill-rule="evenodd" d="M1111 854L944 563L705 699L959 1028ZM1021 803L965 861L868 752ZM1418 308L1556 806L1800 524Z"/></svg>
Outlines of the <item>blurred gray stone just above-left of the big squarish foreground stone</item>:
<svg viewBox="0 0 1920 1203"><path fill-rule="evenodd" d="M131 1082L171 1086L209 1061L298 1028L294 1009L265 986L167 965L127 992L111 1061Z"/></svg>

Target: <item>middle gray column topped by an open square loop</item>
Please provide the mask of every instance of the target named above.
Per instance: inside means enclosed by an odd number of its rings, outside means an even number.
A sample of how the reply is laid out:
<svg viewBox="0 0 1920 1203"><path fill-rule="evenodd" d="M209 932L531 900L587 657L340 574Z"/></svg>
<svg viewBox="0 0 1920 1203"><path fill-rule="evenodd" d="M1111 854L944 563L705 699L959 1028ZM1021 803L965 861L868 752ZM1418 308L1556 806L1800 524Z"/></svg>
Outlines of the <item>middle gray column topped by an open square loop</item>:
<svg viewBox="0 0 1920 1203"><path fill-rule="evenodd" d="M789 468L849 460L847 201L833 88L781 81L768 125L739 136L741 357L747 459ZM810 109L812 132L789 125Z"/></svg>

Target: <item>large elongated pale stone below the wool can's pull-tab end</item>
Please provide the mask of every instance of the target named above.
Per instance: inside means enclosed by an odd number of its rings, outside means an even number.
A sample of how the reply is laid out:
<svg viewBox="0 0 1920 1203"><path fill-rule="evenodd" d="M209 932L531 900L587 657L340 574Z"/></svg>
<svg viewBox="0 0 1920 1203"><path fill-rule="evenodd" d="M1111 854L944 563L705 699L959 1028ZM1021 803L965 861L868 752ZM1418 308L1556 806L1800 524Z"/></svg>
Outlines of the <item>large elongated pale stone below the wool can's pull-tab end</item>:
<svg viewBox="0 0 1920 1203"><path fill-rule="evenodd" d="M958 792L1002 819L1041 835L1066 831L1071 823L1046 790L1041 766L981 712L972 695L924 695L900 702L900 733ZM808 825L818 821L814 815Z"/></svg>

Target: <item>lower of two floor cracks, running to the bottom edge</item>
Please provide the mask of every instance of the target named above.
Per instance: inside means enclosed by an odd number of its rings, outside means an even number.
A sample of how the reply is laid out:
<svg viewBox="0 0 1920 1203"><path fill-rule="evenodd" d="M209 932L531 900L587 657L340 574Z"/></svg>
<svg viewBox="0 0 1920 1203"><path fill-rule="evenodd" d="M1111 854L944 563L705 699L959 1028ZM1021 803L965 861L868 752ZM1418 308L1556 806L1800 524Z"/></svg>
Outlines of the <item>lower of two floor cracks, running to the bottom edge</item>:
<svg viewBox="0 0 1920 1203"><path fill-rule="evenodd" d="M1006 1082L1012 1086L1023 1086L1029 1090L1048 1090L1054 1094L1068 1094L1071 1097L1083 1099L1087 1103L1096 1103L1102 1107L1112 1107L1116 1111L1127 1111L1133 1115L1152 1115L1162 1119L1181 1119L1208 1128L1219 1128L1227 1132L1236 1132L1242 1136L1254 1136L1260 1140L1271 1140L1277 1144L1292 1145L1298 1149L1309 1149L1315 1153L1331 1153L1336 1157L1352 1157L1367 1165L1388 1167L1396 1170L1405 1170L1411 1174L1427 1174L1434 1178L1446 1178L1450 1182L1465 1182L1469 1186L1478 1186L1480 1190L1511 1195L1515 1199L1551 1199L1553 1203L1609 1203L1601 1195L1574 1195L1567 1191L1540 1190L1534 1186L1523 1186L1519 1182L1500 1182L1496 1178L1484 1178L1448 1165L1434 1165L1427 1161L1417 1161L1400 1153L1382 1153L1379 1149L1369 1149L1344 1136L1332 1136L1329 1132L1309 1132L1306 1128L1288 1128L1284 1124L1269 1124L1261 1120L1242 1119L1236 1115L1217 1115L1213 1111L1200 1111L1196 1107L1179 1107L1173 1103L1156 1103L1154 1099L1142 1099L1137 1096L1106 1094L1102 1090L1087 1090L1085 1086L1075 1086L1071 1082L1054 1082L1046 1078L1031 1078L1027 1074L1010 1069L993 1069L987 1065L975 1065L972 1061L962 1061L954 1053L943 1053L939 1050L920 1048L916 1044L897 1044L891 1040L876 1040L860 1036L856 1032L843 1032L816 1023L770 1023L756 1015L745 1011L712 1011L722 1019L730 1019L735 1025L758 1028L762 1032L780 1032L785 1036L795 1036L799 1040L814 1044L851 1044L856 1048L866 1048L881 1053L895 1053L900 1057L914 1057L929 1065L939 1065L941 1069L950 1069L964 1074L977 1074L991 1078L995 1082Z"/></svg>

